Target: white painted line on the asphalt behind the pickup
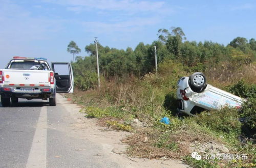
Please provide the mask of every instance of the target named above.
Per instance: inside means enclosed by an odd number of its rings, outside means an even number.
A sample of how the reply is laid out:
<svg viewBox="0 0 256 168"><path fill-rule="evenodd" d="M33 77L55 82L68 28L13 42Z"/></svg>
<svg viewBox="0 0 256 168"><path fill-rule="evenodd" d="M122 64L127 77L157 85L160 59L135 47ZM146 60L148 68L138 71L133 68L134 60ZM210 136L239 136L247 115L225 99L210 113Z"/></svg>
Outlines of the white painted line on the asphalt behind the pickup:
<svg viewBox="0 0 256 168"><path fill-rule="evenodd" d="M40 116L36 125L33 143L30 149L27 168L46 167L47 143L47 107L41 107Z"/></svg>

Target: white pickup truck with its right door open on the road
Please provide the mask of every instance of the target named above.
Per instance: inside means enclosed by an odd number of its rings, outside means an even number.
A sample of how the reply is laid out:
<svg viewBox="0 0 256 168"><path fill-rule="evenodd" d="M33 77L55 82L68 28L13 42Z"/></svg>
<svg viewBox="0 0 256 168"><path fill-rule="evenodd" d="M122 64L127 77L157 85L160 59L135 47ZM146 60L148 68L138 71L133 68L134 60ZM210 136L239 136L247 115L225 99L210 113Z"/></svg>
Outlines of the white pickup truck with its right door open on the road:
<svg viewBox="0 0 256 168"><path fill-rule="evenodd" d="M0 69L2 106L17 103L18 98L48 100L56 105L56 93L73 92L73 72L70 63L51 63L45 58L13 57L5 69Z"/></svg>

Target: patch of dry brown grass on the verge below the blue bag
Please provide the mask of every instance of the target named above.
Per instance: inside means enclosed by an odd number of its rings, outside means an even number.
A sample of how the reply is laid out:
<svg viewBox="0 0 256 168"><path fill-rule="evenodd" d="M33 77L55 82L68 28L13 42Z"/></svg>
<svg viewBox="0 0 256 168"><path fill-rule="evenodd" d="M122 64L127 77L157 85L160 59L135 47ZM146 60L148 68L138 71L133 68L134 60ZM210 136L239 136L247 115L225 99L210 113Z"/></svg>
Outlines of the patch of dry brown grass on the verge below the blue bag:
<svg viewBox="0 0 256 168"><path fill-rule="evenodd" d="M167 149L166 147L156 147L159 139L164 138L165 145L175 143L175 150ZM145 141L147 139L147 141ZM220 139L213 138L207 133L189 128L189 125L183 125L174 132L162 132L155 128L142 128L136 130L134 134L123 139L123 142L130 145L127 153L131 156L140 158L171 158L180 159L182 156L190 154L189 146L191 143L198 141L206 143L209 141L221 142Z"/></svg>

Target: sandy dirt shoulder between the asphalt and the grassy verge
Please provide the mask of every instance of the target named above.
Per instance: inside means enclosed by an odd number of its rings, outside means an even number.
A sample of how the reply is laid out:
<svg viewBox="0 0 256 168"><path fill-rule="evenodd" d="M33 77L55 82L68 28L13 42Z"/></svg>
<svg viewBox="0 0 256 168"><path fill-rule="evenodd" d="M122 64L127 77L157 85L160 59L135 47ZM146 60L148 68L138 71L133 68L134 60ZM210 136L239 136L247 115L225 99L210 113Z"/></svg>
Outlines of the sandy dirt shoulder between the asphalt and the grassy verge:
<svg viewBox="0 0 256 168"><path fill-rule="evenodd" d="M70 118L73 123L70 124L70 135L82 139L87 139L94 144L100 146L102 151L96 156L108 157L113 162L116 162L120 167L188 167L180 160L169 159L146 159L134 158L125 154L126 144L121 143L121 139L129 136L129 132L109 130L107 127L97 125L97 119L87 119L79 110L81 107L77 104L72 104L67 98L63 98L57 94L57 101L69 111ZM84 150L84 149L79 149Z"/></svg>

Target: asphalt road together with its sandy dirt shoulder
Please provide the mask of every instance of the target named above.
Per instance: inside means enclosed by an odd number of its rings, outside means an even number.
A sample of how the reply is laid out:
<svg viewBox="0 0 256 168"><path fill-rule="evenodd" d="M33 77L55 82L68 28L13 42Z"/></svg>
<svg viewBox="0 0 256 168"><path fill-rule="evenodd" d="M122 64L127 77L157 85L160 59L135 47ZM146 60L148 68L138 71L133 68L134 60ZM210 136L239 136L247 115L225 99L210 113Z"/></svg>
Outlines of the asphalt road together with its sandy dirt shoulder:
<svg viewBox="0 0 256 168"><path fill-rule="evenodd" d="M129 133L100 127L79 110L59 94L56 106L39 99L0 106L0 167L187 167L126 156L120 140Z"/></svg>

